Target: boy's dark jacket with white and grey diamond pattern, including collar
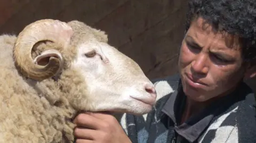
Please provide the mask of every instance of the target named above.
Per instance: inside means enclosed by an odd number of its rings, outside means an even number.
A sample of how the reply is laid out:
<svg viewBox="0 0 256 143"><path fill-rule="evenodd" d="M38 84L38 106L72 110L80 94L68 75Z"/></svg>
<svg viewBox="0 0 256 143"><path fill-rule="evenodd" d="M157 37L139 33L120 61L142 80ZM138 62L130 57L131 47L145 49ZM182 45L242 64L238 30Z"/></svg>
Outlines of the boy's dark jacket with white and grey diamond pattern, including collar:
<svg viewBox="0 0 256 143"><path fill-rule="evenodd" d="M121 120L133 143L256 142L255 99L245 83L179 125L176 121L186 98L181 94L179 75L153 82L157 90L153 111L143 116L124 114Z"/></svg>

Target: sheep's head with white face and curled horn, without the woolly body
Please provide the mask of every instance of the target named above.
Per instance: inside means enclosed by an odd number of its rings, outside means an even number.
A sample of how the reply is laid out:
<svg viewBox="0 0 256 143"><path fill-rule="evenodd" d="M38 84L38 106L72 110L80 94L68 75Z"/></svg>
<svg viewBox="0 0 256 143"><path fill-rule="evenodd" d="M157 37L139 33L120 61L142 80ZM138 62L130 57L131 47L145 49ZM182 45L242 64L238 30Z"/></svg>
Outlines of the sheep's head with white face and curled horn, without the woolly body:
<svg viewBox="0 0 256 143"><path fill-rule="evenodd" d="M66 72L73 71L81 81L76 85L79 91L65 96L76 110L148 113L156 100L153 83L136 62L107 40L103 31L83 22L39 20L18 35L14 62L24 77L38 82L53 77L65 80ZM52 44L33 58L33 47L42 41Z"/></svg>

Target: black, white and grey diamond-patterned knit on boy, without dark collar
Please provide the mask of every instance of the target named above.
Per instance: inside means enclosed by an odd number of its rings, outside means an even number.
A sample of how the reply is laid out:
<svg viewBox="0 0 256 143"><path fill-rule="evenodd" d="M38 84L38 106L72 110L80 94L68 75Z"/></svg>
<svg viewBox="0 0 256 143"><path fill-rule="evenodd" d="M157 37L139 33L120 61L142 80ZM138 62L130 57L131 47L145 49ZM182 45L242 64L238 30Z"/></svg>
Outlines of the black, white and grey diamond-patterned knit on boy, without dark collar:
<svg viewBox="0 0 256 143"><path fill-rule="evenodd" d="M200 129L196 132L197 130L193 129L195 132L189 132L190 134L184 137L184 135L175 136L177 135L175 121L162 110L167 100L170 100L173 93L178 90L179 76L155 79L153 82L157 90L157 103L153 111L143 116L124 114L121 120L122 127L133 143L256 143L255 99L251 89L246 85L243 84L237 90L236 94L239 95L236 96L237 99L228 99L229 104L218 103L221 110L212 112L211 120L202 131ZM204 118L206 116L202 117L202 120ZM196 124L196 128L201 127ZM189 140L189 136L191 139L194 137L194 140Z"/></svg>

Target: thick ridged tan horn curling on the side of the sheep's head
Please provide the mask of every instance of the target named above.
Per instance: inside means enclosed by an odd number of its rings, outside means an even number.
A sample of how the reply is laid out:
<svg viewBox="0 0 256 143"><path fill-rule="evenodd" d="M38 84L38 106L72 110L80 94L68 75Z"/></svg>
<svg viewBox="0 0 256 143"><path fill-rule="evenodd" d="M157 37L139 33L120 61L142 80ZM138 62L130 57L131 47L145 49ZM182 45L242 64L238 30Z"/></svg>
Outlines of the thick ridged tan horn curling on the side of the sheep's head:
<svg viewBox="0 0 256 143"><path fill-rule="evenodd" d="M60 69L61 59L51 56L46 65L33 61L31 50L39 41L52 41L65 48L69 45L73 30L59 20L38 20L26 26L18 35L13 49L13 57L18 70L27 78L44 80L53 77Z"/></svg>

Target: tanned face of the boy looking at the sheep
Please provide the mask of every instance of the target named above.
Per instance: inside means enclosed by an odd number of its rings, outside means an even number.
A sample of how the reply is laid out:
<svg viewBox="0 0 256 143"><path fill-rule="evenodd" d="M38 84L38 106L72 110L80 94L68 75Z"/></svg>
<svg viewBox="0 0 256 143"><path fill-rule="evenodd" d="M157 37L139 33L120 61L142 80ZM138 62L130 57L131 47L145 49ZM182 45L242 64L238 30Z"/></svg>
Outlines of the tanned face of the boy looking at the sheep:
<svg viewBox="0 0 256 143"><path fill-rule="evenodd" d="M237 38L203 29L198 18L182 41L179 72L187 97L204 102L233 90L247 70Z"/></svg>

